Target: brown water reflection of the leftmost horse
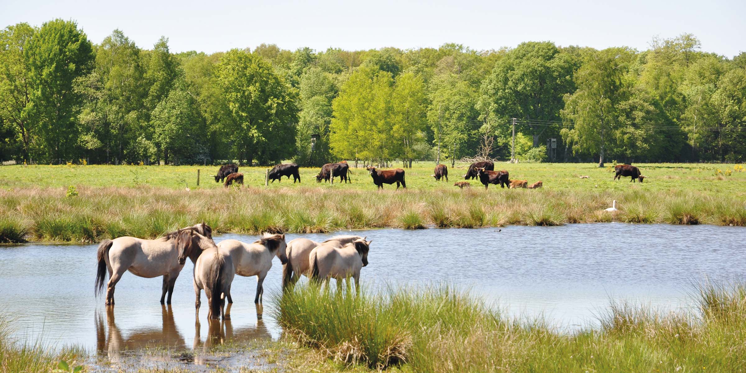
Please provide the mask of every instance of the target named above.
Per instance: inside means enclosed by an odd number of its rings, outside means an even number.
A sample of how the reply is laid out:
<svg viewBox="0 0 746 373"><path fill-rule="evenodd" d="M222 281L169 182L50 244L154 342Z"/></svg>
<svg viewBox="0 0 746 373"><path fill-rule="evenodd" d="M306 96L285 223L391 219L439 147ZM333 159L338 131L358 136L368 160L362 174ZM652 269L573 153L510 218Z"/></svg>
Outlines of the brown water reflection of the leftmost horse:
<svg viewBox="0 0 746 373"><path fill-rule="evenodd" d="M114 321L113 307L107 307L106 325L108 333L106 333L104 318L100 312L96 313L96 344L99 353L106 351L110 360L119 361L123 350L137 350L155 346L186 348L184 336L181 336L176 329L171 306L161 306L161 315L163 316L163 326L160 328L148 326L135 329L132 333L122 333L122 330L119 330Z"/></svg>

